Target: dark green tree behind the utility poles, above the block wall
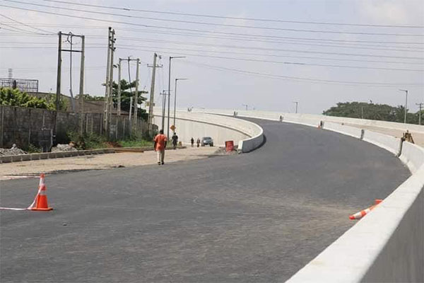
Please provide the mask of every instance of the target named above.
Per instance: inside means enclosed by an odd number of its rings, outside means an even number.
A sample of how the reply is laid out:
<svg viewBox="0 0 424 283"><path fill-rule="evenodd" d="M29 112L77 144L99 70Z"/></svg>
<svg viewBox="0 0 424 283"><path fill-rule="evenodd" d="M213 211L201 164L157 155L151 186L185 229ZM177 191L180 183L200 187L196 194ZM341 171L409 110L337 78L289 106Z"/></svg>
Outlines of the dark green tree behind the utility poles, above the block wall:
<svg viewBox="0 0 424 283"><path fill-rule="evenodd" d="M112 84L112 99L114 105L117 107L118 104L118 84L113 82ZM136 88L136 81L131 81L131 83L128 83L128 81L122 79L121 80L121 110L129 112L129 103L131 100L131 97L134 98L135 96L135 88ZM143 101L146 101L147 98L141 96L142 94L148 93L147 91L139 91L139 99L137 101L138 105L141 105ZM147 120L147 113L146 110L138 108L137 110L137 116L142 117L144 120Z"/></svg>

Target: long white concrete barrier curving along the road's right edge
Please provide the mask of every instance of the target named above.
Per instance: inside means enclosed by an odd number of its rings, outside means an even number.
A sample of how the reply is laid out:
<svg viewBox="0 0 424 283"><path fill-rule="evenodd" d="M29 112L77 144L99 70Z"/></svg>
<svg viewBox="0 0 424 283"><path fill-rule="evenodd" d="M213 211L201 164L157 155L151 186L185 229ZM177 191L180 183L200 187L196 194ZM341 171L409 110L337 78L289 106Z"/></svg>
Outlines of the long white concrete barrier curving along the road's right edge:
<svg viewBox="0 0 424 283"><path fill-rule="evenodd" d="M228 110L208 112L233 114ZM238 115L244 117L280 119L273 112L240 112ZM281 116L283 122L303 125L311 120L318 122L322 119L325 121L324 128L353 137L358 137L359 132L346 125L333 125L331 121L409 129L410 132L422 132L424 129L418 125L369 120L358 123L351 118L319 115L314 115L319 116L316 120L310 117L313 115ZM393 154L399 154L400 139L369 130L364 132L363 139ZM413 175L288 282L424 282L424 149L404 142L400 158Z"/></svg>

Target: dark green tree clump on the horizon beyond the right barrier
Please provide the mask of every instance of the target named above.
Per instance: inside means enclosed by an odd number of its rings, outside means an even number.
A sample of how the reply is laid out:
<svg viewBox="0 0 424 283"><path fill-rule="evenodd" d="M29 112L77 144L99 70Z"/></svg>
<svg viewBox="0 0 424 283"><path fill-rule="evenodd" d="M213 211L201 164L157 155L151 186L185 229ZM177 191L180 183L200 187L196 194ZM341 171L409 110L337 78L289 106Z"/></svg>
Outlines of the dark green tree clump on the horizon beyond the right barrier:
<svg viewBox="0 0 424 283"><path fill-rule="evenodd" d="M402 105L394 107L387 104L346 102L337 103L337 106L323 111L322 114L337 117L404 122L405 108ZM418 124L418 112L408 112L406 115L406 121L411 124Z"/></svg>

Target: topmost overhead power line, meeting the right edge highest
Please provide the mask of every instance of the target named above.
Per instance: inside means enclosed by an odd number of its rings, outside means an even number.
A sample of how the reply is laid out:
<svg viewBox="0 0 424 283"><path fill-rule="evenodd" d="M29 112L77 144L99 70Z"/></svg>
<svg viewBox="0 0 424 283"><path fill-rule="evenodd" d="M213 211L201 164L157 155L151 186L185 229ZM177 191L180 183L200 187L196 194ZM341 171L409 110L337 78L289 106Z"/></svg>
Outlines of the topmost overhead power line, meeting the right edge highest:
<svg viewBox="0 0 424 283"><path fill-rule="evenodd" d="M263 22L271 22L271 23L305 23L305 24L315 24L315 25L351 25L351 26L363 26L363 27L375 27L375 28L424 28L423 25L371 25L371 24L360 24L360 23L329 23L329 22L314 22L314 21L284 21L284 20L274 20L274 19L266 19L266 18L242 18L242 17L228 17L228 16L212 16L212 15L204 15L204 14L196 14L196 13L178 13L178 12L168 12L168 11L153 11L153 10L142 10L135 8L122 8L122 7L113 7L113 6L102 6L102 5L94 5L94 4L81 4L81 3L73 3L69 1L55 1L55 0L43 0L47 2L55 2L61 4L71 4L78 6L88 6L95 8L109 8L114 10L122 10L122 11L138 11L144 13L160 13L160 14L168 14L168 15L177 15L177 16L193 16L193 17L204 17L204 18L224 18L224 19L232 19L232 20L243 20L243 21L263 21Z"/></svg>

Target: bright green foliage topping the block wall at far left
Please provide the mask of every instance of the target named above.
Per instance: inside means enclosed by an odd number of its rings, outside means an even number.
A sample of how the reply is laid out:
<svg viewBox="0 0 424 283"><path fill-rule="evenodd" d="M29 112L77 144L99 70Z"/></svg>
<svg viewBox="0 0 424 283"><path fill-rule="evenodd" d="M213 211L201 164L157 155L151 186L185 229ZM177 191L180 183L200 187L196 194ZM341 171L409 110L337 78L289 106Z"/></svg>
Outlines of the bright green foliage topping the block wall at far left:
<svg viewBox="0 0 424 283"><path fill-rule="evenodd" d="M0 105L55 110L54 103L13 88L0 88Z"/></svg>

